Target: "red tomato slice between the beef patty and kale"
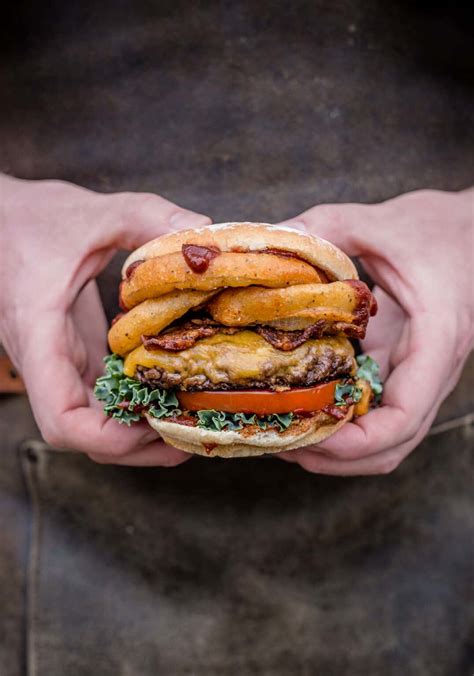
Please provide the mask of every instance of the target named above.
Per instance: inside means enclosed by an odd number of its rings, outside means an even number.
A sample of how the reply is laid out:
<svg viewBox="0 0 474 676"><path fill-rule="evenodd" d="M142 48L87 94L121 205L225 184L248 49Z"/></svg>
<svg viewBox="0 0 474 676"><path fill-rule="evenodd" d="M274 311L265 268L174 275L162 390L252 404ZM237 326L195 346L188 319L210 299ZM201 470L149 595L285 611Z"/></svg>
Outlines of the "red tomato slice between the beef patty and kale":
<svg viewBox="0 0 474 676"><path fill-rule="evenodd" d="M234 390L203 392L176 392L180 406L188 411L215 409L226 413L300 414L320 411L334 404L334 392L339 381L323 383L316 387L302 387L272 392L270 390Z"/></svg>

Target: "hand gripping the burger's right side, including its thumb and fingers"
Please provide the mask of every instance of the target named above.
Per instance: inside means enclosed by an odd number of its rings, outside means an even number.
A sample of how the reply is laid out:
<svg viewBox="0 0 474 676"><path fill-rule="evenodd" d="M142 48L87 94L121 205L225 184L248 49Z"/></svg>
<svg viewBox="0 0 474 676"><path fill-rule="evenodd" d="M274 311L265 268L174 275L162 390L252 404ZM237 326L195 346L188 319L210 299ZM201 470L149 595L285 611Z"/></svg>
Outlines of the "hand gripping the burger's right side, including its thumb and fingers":
<svg viewBox="0 0 474 676"><path fill-rule="evenodd" d="M362 348L387 380L381 408L280 457L323 474L385 474L423 439L473 346L473 214L472 190L422 190L287 221L358 256L376 283Z"/></svg>

